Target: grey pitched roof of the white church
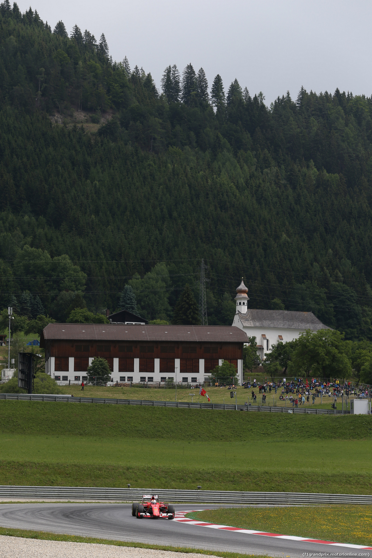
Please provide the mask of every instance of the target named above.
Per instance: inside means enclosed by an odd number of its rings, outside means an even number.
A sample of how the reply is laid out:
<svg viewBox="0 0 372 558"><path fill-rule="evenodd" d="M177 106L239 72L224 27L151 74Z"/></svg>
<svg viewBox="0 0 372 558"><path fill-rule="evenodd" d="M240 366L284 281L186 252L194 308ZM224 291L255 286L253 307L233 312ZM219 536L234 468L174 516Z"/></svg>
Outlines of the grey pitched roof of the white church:
<svg viewBox="0 0 372 558"><path fill-rule="evenodd" d="M250 328L288 329L331 329L322 324L312 312L292 312L288 310L248 309L247 314L238 313L243 326Z"/></svg>

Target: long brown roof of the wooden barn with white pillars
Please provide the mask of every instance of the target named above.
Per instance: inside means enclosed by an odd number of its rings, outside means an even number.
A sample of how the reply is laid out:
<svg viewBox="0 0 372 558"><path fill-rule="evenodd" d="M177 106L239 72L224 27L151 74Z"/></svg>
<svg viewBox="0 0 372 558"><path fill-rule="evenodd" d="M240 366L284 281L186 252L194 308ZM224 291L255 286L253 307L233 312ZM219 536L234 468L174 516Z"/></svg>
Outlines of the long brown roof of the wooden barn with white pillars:
<svg viewBox="0 0 372 558"><path fill-rule="evenodd" d="M174 343L247 343L247 335L224 325L48 324L44 340L173 341ZM40 338L41 341L41 338ZM43 344L44 346L44 344Z"/></svg>

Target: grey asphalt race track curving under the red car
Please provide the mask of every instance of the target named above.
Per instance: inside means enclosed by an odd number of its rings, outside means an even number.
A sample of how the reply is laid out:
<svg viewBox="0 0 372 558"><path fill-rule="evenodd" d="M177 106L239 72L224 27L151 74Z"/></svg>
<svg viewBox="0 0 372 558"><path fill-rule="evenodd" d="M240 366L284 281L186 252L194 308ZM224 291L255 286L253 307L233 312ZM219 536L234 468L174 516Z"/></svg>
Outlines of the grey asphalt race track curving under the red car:
<svg viewBox="0 0 372 558"><path fill-rule="evenodd" d="M201 509L176 504L177 511ZM219 506L204 506L206 509ZM205 550L268 556L303 556L303 552L358 552L345 546L283 540L276 537L221 531L185 525L168 519L132 517L131 504L36 503L1 504L0 526L67 533L156 545L186 546ZM282 533L285 535L286 533ZM368 552L361 550L360 552Z"/></svg>

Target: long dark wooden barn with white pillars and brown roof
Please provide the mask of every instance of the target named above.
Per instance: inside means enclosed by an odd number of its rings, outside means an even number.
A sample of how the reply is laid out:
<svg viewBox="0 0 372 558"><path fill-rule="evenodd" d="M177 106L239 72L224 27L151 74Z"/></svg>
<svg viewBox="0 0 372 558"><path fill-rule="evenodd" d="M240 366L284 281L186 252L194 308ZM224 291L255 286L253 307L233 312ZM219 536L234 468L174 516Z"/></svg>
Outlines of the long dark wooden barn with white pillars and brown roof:
<svg viewBox="0 0 372 558"><path fill-rule="evenodd" d="M204 382L223 360L242 374L247 335L233 326L49 324L40 338L46 372L80 382L94 357L107 359L113 382Z"/></svg>

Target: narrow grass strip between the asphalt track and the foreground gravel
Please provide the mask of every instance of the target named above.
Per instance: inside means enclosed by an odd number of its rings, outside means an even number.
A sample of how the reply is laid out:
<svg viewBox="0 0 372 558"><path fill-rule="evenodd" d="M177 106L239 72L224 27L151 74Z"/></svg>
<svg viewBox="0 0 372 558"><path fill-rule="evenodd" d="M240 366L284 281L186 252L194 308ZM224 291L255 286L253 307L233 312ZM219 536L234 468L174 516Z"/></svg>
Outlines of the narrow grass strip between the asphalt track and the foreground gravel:
<svg viewBox="0 0 372 558"><path fill-rule="evenodd" d="M186 554L204 554L205 556L213 555L221 556L222 558L247 558L248 556L254 556L254 558L269 558L269 556L236 554L236 552L212 552L209 550L192 549L183 546L146 545L142 542L112 541L106 538L79 537L75 535L57 535L57 533L49 533L46 531L27 531L24 529L8 529L6 527L0 527L0 535L7 535L8 537L37 538L43 541L85 542L90 544L93 543L95 545L128 546L131 548L140 549L171 550L172 552L183 552Z"/></svg>

